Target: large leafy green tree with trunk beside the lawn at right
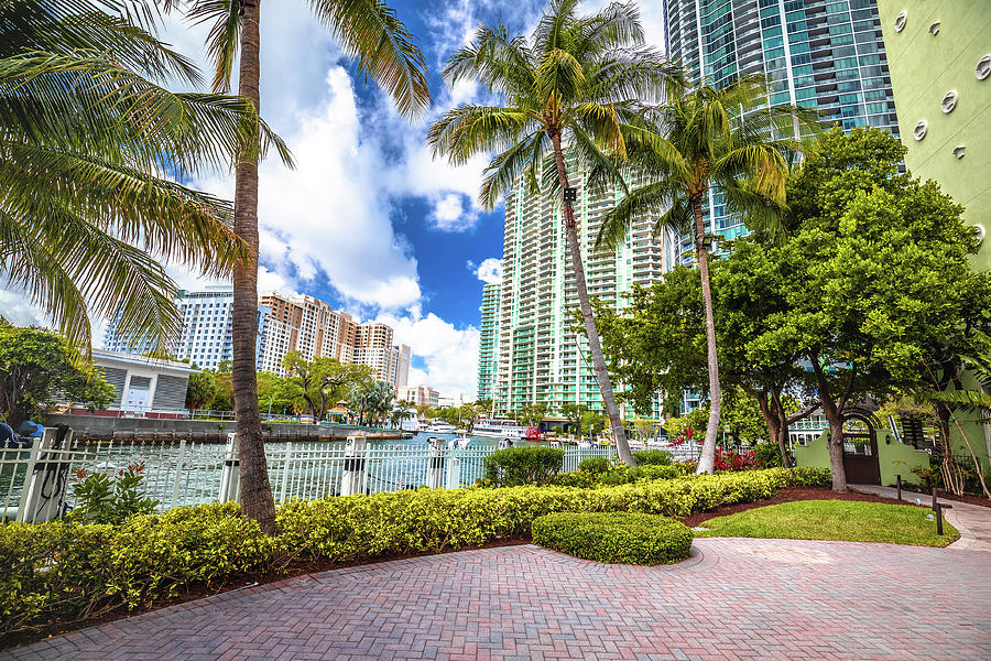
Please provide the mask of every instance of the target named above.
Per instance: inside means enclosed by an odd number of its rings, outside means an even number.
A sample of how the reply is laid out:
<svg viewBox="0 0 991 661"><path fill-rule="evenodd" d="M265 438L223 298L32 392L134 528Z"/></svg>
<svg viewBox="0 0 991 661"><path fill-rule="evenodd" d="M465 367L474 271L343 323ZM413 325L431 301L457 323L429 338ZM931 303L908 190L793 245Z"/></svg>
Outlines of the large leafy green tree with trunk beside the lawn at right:
<svg viewBox="0 0 991 661"><path fill-rule="evenodd" d="M819 138L788 181L791 235L765 251L787 310L751 348L756 359L794 350L807 361L840 491L848 405L918 383L927 347L963 321L977 240L934 182L899 173L904 153L881 129Z"/></svg>

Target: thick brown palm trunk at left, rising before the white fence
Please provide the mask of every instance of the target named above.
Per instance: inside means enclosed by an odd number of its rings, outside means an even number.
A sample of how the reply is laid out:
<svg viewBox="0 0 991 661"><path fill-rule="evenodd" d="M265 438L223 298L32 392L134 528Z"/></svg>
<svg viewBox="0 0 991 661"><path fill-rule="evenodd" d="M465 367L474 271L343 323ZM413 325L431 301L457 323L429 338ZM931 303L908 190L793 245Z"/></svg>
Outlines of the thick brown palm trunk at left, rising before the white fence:
<svg viewBox="0 0 991 661"><path fill-rule="evenodd" d="M241 62L238 94L260 108L259 95L259 6L242 4ZM238 422L238 448L241 463L241 512L254 519L263 532L275 532L275 502L269 484L265 446L258 410L258 158L238 159L235 183L235 234L248 243L250 256L233 273L231 305L233 355L231 380L235 419Z"/></svg>

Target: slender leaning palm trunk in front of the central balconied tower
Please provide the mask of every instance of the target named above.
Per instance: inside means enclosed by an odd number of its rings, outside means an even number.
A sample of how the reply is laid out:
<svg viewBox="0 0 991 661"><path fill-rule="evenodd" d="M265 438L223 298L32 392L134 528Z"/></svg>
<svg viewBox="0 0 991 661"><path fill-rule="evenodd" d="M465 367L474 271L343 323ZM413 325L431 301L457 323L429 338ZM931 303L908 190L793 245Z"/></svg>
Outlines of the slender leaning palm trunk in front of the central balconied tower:
<svg viewBox="0 0 991 661"><path fill-rule="evenodd" d="M568 187L568 171L564 163L564 151L560 148L560 134L551 136L554 143L554 160L557 162L557 183L564 192ZM568 238L568 248L571 256L571 268L575 271L575 284L578 289L578 307L581 310L581 318L585 319L585 333L588 336L588 350L591 354L592 366L596 370L596 380L599 382L599 392L602 393L602 403L606 405L606 414L612 426L612 435L616 436L616 449L620 460L627 466L635 466L630 444L627 443L627 433L620 420L619 408L616 405L616 395L612 393L612 384L609 382L609 370L606 369L606 357L602 356L602 345L599 343L599 329L596 327L596 317L592 315L591 303L588 300L588 286L585 283L585 267L581 263L581 248L578 246L578 231L575 227L575 209L570 203L565 203L565 235Z"/></svg>

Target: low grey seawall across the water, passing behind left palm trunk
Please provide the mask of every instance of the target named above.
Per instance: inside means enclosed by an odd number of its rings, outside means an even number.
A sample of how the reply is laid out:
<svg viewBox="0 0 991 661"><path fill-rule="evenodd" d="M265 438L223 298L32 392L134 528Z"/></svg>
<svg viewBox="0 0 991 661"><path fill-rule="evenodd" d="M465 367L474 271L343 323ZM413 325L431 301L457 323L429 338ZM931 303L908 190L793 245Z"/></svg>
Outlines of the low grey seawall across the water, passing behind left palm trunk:
<svg viewBox="0 0 991 661"><path fill-rule="evenodd" d="M77 438L84 441L110 441L111 438L141 437L144 440L187 438L205 443L224 443L227 434L236 432L233 421L161 420L148 418L106 418L101 415L48 415L45 424L66 424ZM345 440L349 434L372 438L404 438L409 432L379 430L344 424L298 424L291 422L262 422L262 437L266 441Z"/></svg>

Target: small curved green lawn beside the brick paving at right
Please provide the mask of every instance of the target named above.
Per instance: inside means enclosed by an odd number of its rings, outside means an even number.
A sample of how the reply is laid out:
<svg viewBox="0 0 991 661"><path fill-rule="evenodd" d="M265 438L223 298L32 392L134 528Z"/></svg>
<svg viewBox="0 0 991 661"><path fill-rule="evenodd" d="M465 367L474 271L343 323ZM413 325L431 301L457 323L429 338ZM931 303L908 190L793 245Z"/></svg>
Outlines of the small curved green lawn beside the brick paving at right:
<svg viewBox="0 0 991 661"><path fill-rule="evenodd" d="M946 546L960 534L943 521L943 537L936 521L926 519L932 510L907 505L884 505L854 500L798 500L759 507L728 517L717 517L700 525L696 537L749 537L788 540L839 540L886 542L919 546Z"/></svg>

